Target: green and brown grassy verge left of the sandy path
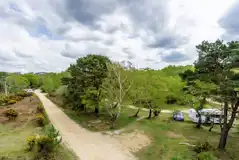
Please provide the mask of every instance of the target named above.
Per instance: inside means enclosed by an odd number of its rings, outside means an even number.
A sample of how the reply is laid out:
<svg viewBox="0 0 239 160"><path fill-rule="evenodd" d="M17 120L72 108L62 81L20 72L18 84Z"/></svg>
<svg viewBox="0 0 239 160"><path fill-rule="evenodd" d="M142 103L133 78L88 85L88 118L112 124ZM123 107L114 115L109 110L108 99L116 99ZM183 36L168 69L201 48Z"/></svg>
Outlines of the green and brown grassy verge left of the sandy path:
<svg viewBox="0 0 239 160"><path fill-rule="evenodd" d="M26 150L26 140L29 136L44 134L44 127L37 127L34 122L38 104L39 100L33 97L32 101L25 98L12 106L1 107L1 110L15 108L19 116L15 120L3 121L4 115L0 110L0 159L4 157L9 160L35 158L35 152ZM52 160L76 160L75 155L64 145L60 145L51 153L51 157Z"/></svg>

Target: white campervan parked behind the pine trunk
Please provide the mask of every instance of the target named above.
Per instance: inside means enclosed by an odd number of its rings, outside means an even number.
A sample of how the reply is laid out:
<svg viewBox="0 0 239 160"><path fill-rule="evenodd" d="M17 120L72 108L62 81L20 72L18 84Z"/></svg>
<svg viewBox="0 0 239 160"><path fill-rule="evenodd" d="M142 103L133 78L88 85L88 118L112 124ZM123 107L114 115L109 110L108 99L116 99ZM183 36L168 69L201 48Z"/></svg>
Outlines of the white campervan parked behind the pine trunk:
<svg viewBox="0 0 239 160"><path fill-rule="evenodd" d="M220 120L223 121L223 113L218 109L202 109L199 111L201 113L202 123L212 123L219 124ZM198 113L195 109L189 109L189 118L197 123L199 120Z"/></svg>

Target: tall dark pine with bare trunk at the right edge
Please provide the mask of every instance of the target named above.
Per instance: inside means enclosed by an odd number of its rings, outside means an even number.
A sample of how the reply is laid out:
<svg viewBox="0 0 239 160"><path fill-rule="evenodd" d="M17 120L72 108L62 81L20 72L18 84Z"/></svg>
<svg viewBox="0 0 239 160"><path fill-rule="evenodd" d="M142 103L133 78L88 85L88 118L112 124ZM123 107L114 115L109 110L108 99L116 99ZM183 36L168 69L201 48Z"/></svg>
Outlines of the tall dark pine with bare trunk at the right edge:
<svg viewBox="0 0 239 160"><path fill-rule="evenodd" d="M211 93L212 96L221 99L224 103L223 122L220 125L221 137L218 144L218 149L224 150L239 106L237 90L239 74L235 72L239 64L239 42L203 41L196 48L199 53L199 58L195 62L198 78L200 81L213 83L216 89Z"/></svg>

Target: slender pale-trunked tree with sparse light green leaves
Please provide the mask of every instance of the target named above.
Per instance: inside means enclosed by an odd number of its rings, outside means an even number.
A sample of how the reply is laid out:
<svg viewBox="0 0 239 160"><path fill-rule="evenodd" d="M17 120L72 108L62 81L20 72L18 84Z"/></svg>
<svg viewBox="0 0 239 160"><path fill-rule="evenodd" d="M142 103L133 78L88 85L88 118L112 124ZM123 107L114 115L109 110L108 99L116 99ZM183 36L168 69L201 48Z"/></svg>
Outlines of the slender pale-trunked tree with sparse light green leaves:
<svg viewBox="0 0 239 160"><path fill-rule="evenodd" d="M122 103L133 81L128 79L125 69L119 63L108 64L108 75L104 79L102 92L106 99L106 108L111 117L112 128L122 109Z"/></svg>

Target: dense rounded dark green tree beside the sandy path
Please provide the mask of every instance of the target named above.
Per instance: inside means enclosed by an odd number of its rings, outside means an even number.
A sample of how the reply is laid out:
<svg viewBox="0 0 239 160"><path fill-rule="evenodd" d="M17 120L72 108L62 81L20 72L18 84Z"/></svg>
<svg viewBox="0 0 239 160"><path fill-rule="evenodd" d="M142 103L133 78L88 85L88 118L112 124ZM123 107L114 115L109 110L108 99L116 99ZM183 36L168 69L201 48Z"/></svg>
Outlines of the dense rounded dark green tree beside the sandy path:
<svg viewBox="0 0 239 160"><path fill-rule="evenodd" d="M69 94L66 97L74 108L84 108L85 100L95 106L94 112L99 113L101 101L101 86L103 80L107 77L107 64L111 63L110 59L101 55L87 55L79 58L76 64L72 64L68 71L70 76L64 78L63 84L67 85ZM94 90L92 92L91 90ZM90 99L89 99L90 98ZM74 99L79 99L75 101ZM69 102L69 101L68 101Z"/></svg>

